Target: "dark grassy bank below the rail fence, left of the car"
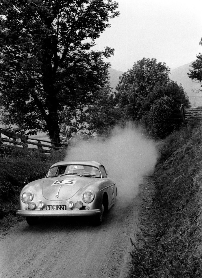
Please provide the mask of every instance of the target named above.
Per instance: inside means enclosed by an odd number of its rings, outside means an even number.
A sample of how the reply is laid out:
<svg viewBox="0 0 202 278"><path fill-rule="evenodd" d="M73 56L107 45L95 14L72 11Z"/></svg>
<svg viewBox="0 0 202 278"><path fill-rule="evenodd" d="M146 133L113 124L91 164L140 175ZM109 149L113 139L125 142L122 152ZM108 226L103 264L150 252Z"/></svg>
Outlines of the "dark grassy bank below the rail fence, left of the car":
<svg viewBox="0 0 202 278"><path fill-rule="evenodd" d="M65 154L65 150L45 154L38 149L0 148L0 218L15 214L23 186L45 177L49 167Z"/></svg>

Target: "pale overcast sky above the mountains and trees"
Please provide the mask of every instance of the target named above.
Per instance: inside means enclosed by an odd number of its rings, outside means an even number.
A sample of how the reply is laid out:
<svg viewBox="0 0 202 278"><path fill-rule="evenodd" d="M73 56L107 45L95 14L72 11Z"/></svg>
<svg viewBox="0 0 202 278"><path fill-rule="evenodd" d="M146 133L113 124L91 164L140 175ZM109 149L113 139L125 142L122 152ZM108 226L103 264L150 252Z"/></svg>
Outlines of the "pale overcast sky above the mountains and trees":
<svg viewBox="0 0 202 278"><path fill-rule="evenodd" d="M95 50L115 49L108 59L123 72L138 60L156 58L174 69L202 52L202 0L117 0L121 15L110 20Z"/></svg>

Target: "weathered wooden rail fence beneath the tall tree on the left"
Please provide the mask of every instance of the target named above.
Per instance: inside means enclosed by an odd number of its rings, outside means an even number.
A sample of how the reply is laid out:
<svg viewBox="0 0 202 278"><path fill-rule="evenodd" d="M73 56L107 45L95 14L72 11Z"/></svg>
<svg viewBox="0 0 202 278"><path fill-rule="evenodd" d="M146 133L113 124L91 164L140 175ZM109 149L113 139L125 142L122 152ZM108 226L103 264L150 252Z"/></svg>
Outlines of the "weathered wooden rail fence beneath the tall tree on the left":
<svg viewBox="0 0 202 278"><path fill-rule="evenodd" d="M43 144L42 142L48 144ZM60 147L55 147L54 143L55 142L30 138L9 129L0 128L0 147L4 147L4 145L6 145L7 147L17 146L23 148L33 148L36 146L43 153L51 153L51 151L61 149L68 145L60 144Z"/></svg>

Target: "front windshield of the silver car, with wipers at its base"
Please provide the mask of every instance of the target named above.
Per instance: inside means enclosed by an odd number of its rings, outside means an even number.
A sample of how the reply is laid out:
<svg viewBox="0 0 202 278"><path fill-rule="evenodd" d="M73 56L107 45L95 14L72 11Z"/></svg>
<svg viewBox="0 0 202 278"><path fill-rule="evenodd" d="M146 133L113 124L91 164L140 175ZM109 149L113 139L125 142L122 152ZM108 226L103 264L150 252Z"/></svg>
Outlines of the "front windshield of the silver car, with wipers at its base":
<svg viewBox="0 0 202 278"><path fill-rule="evenodd" d="M78 164L69 164L69 165L59 165L52 167L46 177L56 177L62 175L77 175L77 176L88 176L101 178L100 171L98 168L88 165L78 165Z"/></svg>

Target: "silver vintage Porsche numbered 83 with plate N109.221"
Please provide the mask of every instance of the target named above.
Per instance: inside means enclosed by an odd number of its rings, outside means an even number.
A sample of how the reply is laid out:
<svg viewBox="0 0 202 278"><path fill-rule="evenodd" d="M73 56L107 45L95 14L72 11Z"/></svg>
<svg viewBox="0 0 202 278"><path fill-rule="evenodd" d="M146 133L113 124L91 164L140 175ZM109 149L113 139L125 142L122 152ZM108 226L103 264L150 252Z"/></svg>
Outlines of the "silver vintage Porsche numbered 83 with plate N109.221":
<svg viewBox="0 0 202 278"><path fill-rule="evenodd" d="M99 162L61 161L45 178L23 187L16 214L25 216L29 225L45 216L93 216L98 225L116 195L116 184Z"/></svg>

